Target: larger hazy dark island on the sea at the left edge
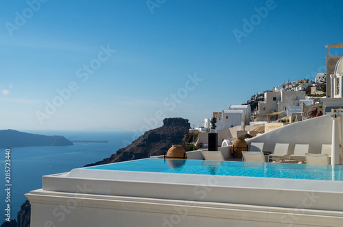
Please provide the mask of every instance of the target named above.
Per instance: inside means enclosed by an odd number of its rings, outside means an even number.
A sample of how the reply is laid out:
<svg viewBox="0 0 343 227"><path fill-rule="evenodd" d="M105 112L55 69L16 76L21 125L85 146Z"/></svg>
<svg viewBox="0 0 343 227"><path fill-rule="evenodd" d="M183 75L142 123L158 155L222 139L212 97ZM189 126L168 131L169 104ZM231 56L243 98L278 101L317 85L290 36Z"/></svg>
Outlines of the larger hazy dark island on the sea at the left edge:
<svg viewBox="0 0 343 227"><path fill-rule="evenodd" d="M38 147L38 146L69 146L73 142L64 136L43 136L19 132L16 130L0 130L0 147Z"/></svg>

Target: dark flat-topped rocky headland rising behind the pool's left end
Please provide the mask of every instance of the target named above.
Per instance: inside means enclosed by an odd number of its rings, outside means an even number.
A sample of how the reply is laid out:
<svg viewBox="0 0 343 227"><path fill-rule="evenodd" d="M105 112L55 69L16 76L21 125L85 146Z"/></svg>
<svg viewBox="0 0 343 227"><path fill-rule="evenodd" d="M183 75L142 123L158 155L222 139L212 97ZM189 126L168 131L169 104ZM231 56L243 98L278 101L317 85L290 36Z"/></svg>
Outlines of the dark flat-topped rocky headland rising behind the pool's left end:
<svg viewBox="0 0 343 227"><path fill-rule="evenodd" d="M181 144L183 136L189 132L190 128L187 119L166 118L163 120L162 127L145 132L137 140L127 147L121 148L109 158L86 166L116 163L164 154L171 145Z"/></svg>

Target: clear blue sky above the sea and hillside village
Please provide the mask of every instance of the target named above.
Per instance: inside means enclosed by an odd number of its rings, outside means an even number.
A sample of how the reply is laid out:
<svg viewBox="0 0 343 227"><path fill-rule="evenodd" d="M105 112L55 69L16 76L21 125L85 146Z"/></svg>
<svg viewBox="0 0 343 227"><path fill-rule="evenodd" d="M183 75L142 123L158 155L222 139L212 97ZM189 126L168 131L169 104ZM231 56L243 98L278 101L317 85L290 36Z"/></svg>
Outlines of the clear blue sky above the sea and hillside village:
<svg viewBox="0 0 343 227"><path fill-rule="evenodd" d="M0 128L139 132L163 117L196 125L257 91L314 80L324 45L343 43L342 8L342 1L1 1Z"/></svg>

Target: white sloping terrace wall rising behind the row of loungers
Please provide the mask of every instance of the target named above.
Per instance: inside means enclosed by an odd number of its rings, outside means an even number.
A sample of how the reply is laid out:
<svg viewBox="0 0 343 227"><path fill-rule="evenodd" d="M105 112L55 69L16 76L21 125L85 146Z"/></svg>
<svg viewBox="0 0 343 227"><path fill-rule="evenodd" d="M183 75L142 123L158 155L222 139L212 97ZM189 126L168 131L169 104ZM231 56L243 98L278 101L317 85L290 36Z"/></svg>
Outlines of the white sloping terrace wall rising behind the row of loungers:
<svg viewBox="0 0 343 227"><path fill-rule="evenodd" d="M263 151L274 151L275 143L289 143L288 154L293 154L294 145L309 144L310 153L320 153L322 144L331 144L332 119L329 115L298 121L265 132L246 142L263 142Z"/></svg>

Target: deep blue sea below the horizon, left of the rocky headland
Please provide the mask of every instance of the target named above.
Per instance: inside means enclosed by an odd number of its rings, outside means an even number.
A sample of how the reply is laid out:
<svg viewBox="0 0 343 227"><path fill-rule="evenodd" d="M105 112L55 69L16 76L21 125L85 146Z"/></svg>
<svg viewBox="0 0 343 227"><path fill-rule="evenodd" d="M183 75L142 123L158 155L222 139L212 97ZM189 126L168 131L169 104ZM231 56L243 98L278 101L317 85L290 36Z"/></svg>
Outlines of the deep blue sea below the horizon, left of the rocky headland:
<svg viewBox="0 0 343 227"><path fill-rule="evenodd" d="M108 141L108 143L74 143L62 147L11 147L11 219L27 200L25 193L42 188L42 176L71 171L73 168L95 163L132 142L132 132L86 132L86 131L25 131L44 135L62 135L76 141ZM0 225L5 222L5 148L0 152L1 191Z"/></svg>

